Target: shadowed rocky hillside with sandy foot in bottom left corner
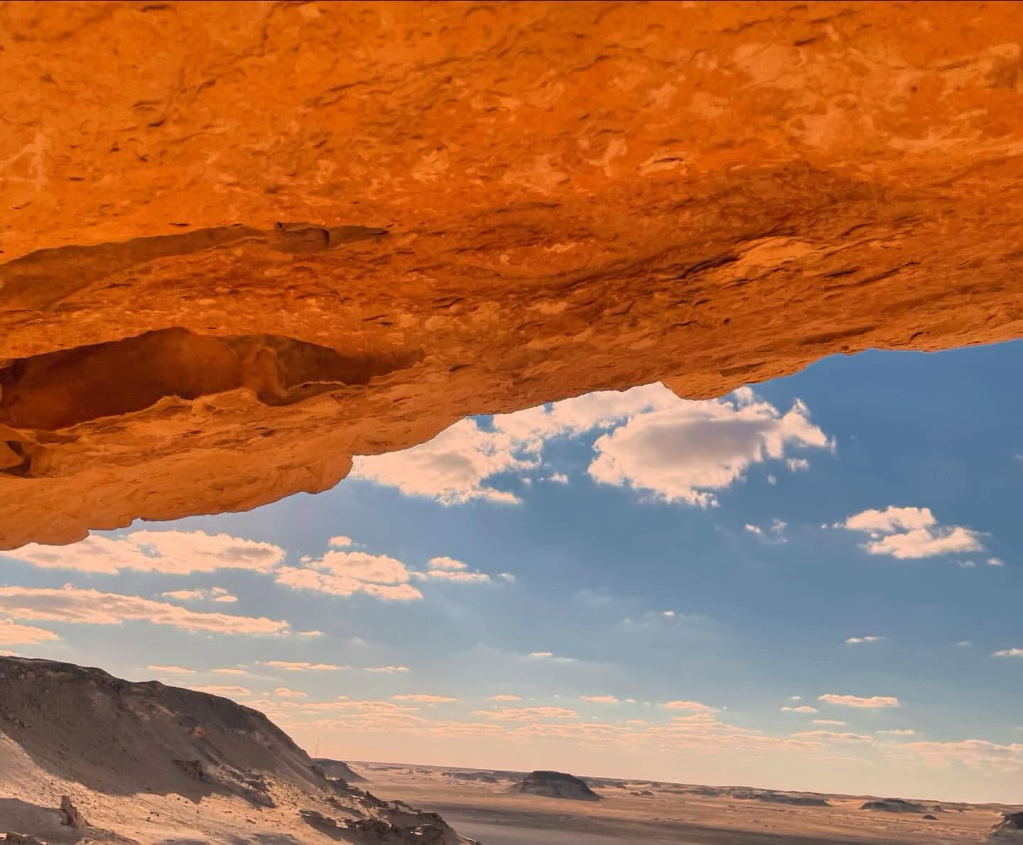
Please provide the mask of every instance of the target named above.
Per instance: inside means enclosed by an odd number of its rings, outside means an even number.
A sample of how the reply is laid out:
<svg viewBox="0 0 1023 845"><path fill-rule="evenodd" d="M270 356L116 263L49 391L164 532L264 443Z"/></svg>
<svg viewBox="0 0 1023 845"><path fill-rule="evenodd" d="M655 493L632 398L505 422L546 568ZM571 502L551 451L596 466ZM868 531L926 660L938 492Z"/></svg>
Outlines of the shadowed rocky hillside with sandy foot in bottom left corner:
<svg viewBox="0 0 1023 845"><path fill-rule="evenodd" d="M256 710L25 658L0 657L0 833L45 842L469 843L325 776Z"/></svg>

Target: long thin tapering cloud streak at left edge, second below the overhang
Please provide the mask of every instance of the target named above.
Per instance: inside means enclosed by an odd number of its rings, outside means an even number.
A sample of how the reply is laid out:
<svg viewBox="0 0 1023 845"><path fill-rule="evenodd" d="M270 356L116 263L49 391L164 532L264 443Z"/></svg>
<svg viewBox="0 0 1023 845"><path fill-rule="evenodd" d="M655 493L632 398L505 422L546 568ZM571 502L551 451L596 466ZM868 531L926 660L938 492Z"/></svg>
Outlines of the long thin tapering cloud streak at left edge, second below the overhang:
<svg viewBox="0 0 1023 845"><path fill-rule="evenodd" d="M151 598L79 589L71 584L61 589L0 587L0 613L14 619L86 625L120 625L125 620L140 620L185 631L225 634L280 634L288 630L286 622L264 617L199 613Z"/></svg>

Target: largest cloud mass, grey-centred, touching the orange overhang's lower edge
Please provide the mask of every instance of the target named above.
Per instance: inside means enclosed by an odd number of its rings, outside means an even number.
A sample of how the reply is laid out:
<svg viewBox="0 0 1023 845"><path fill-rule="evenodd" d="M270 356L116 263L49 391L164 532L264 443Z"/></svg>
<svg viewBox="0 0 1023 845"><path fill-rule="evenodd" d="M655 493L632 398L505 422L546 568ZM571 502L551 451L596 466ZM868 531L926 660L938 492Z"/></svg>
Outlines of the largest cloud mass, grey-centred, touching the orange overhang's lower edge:
<svg viewBox="0 0 1023 845"><path fill-rule="evenodd" d="M433 440L386 455L357 457L352 475L445 504L518 503L489 483L542 464L546 442L604 430L589 475L667 501L716 503L713 491L741 480L752 463L782 460L790 449L833 447L797 402L782 413L743 388L731 399L679 399L663 385L603 391L509 414L463 419ZM564 474L547 480L566 483Z"/></svg>

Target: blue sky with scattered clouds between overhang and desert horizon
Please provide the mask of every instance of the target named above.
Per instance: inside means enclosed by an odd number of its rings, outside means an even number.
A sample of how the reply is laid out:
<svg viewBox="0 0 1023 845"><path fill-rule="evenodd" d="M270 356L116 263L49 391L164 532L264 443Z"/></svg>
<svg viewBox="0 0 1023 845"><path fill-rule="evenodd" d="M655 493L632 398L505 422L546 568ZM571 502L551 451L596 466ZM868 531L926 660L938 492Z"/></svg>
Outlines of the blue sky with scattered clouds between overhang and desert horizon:
<svg viewBox="0 0 1023 845"><path fill-rule="evenodd" d="M463 420L318 496L8 552L0 649L346 759L1018 800L1021 363Z"/></svg>

